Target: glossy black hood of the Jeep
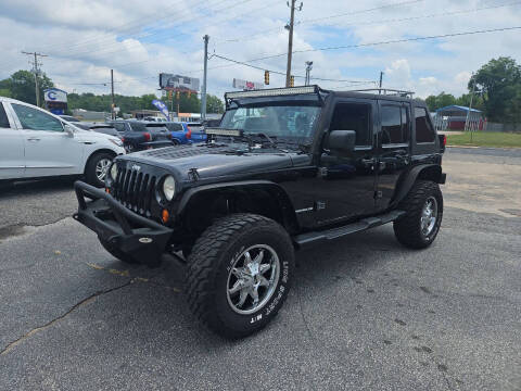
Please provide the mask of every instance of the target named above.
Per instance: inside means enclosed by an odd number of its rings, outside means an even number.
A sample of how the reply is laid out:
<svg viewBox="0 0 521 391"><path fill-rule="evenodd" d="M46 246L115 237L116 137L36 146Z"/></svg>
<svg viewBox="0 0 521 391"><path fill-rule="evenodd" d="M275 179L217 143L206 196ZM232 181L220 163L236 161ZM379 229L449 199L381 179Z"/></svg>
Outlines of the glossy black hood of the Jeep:
<svg viewBox="0 0 521 391"><path fill-rule="evenodd" d="M296 155L296 153L294 153ZM244 175L289 168L293 166L292 153L276 150L234 150L229 147L205 144L168 147L131 153L123 160L160 166L177 172L182 180L192 180L190 172L196 169L199 179L229 175Z"/></svg>

